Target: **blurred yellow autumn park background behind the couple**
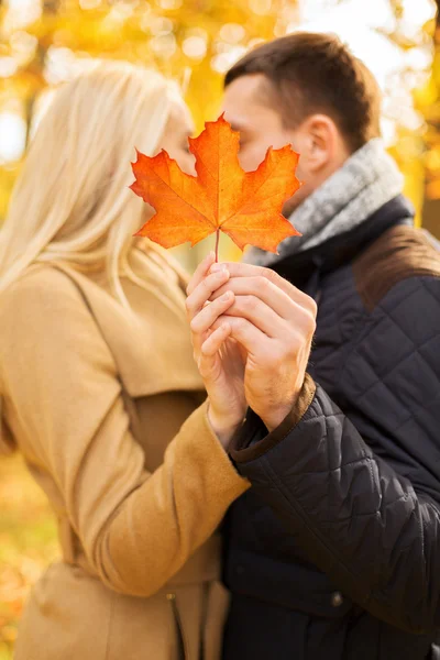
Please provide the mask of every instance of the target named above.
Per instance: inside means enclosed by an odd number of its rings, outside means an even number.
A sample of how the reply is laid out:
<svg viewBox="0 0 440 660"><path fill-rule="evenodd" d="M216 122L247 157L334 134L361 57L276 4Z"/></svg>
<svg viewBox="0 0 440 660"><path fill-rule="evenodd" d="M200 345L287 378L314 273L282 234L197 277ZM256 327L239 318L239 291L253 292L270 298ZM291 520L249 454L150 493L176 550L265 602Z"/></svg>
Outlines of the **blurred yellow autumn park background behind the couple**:
<svg viewBox="0 0 440 660"><path fill-rule="evenodd" d="M440 0L0 0L0 224L53 90L96 58L141 63L175 78L200 131L219 114L224 72L249 48L302 29L339 34L377 77L384 140L417 222L440 238L439 7ZM206 250L204 243L176 254L191 270ZM224 239L220 255L240 254ZM44 496L20 457L0 459L0 660L12 657L30 586L57 556Z"/></svg>

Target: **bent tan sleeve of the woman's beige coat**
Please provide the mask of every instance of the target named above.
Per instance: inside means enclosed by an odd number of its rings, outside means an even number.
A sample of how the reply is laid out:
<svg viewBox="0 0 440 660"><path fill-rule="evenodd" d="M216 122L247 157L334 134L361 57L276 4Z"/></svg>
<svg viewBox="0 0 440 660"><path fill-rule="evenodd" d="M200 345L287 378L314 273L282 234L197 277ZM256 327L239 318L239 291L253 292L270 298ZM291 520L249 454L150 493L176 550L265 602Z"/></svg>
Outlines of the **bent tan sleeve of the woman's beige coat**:
<svg viewBox="0 0 440 660"><path fill-rule="evenodd" d="M7 404L101 581L148 596L249 484L211 431L205 405L172 440L163 464L146 472L116 365L79 293L64 277L52 289L37 284L24 278L2 296Z"/></svg>

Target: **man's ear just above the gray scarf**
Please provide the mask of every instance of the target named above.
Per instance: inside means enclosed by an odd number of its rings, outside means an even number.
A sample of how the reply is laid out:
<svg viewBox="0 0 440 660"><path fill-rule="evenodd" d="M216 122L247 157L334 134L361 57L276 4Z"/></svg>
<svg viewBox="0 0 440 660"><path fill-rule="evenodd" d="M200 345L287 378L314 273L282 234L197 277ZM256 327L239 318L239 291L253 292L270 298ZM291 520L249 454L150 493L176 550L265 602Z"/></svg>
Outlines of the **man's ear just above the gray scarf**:
<svg viewBox="0 0 440 660"><path fill-rule="evenodd" d="M344 151L342 138L334 121L327 114L311 114L304 121L299 132L302 134L310 172L318 174L340 157L344 160L345 154L340 153Z"/></svg>

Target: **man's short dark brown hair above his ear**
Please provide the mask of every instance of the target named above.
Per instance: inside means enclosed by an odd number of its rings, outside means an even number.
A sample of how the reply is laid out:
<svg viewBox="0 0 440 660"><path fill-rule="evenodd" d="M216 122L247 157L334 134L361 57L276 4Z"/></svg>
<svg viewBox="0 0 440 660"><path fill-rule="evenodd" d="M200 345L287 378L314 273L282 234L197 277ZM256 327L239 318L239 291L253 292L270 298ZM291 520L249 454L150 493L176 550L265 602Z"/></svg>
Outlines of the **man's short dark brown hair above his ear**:
<svg viewBox="0 0 440 660"><path fill-rule="evenodd" d="M263 44L228 72L224 85L252 74L266 76L287 127L321 112L334 121L351 152L381 134L377 81L336 35L296 32Z"/></svg>

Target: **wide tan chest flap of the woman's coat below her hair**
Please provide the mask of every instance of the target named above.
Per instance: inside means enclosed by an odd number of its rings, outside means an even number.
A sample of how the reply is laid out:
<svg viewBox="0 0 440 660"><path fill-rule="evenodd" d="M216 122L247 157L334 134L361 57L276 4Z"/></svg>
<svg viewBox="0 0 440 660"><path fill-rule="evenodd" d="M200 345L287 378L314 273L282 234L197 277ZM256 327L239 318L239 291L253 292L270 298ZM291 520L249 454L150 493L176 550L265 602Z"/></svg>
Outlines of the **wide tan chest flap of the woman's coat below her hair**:
<svg viewBox="0 0 440 660"><path fill-rule="evenodd" d="M131 314L89 277L65 264L53 264L53 267L62 271L78 288L131 397L204 389L193 358L184 295L180 292L182 312L163 302L166 288L175 289L177 284L156 282L148 290L135 285L128 287L128 299L135 312ZM176 290L173 293L176 296Z"/></svg>

